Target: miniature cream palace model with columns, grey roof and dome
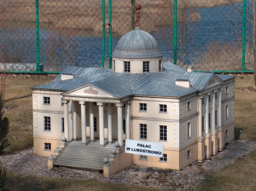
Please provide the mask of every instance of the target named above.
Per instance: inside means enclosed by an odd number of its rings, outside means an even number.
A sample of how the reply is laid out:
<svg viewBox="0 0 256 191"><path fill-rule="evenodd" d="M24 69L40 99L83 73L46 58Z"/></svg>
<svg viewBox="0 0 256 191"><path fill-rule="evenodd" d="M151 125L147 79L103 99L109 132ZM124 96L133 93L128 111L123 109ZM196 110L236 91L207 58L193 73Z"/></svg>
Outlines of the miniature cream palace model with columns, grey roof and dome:
<svg viewBox="0 0 256 191"><path fill-rule="evenodd" d="M132 164L180 170L222 151L234 139L235 77L162 61L156 39L136 27L112 69L67 67L32 87L34 154L50 156L49 169L108 177ZM163 156L125 153L126 140L163 143Z"/></svg>

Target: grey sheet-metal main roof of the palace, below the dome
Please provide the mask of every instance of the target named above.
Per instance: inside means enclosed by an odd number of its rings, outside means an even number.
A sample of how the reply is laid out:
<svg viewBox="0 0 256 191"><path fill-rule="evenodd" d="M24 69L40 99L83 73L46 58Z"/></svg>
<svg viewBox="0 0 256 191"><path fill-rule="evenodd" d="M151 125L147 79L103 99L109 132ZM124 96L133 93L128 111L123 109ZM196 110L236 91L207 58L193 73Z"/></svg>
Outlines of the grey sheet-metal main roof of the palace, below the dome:
<svg viewBox="0 0 256 191"><path fill-rule="evenodd" d="M75 79L61 80L59 75L53 82L32 87L55 91L70 91L86 84L92 84L106 92L123 98L129 95L152 95L180 98L204 89L213 73L187 72L172 63L164 63L166 68L156 73L130 74L117 73L104 68L67 67L63 73L76 75ZM179 71L180 70L180 71ZM234 76L216 75L221 80L228 80ZM192 87L185 88L175 85L176 79L188 79Z"/></svg>

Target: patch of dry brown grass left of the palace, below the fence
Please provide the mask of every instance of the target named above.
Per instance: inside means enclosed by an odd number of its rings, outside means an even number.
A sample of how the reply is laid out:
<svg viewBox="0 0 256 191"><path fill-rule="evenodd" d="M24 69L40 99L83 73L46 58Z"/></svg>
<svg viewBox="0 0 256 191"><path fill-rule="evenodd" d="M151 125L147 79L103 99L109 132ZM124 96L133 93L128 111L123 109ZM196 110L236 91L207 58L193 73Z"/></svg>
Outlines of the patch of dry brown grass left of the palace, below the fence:
<svg viewBox="0 0 256 191"><path fill-rule="evenodd" d="M12 153L33 146L33 114L31 86L36 86L53 80L56 75L8 75L6 79L4 107L5 116L10 121L10 131L7 135L11 145L5 149Z"/></svg>

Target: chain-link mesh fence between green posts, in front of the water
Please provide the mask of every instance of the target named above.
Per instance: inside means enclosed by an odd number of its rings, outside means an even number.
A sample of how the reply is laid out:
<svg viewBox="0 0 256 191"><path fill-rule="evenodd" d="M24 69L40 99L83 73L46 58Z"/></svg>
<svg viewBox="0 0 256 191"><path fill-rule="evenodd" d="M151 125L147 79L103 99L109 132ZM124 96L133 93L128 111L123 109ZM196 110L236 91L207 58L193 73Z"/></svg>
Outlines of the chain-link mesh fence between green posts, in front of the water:
<svg viewBox="0 0 256 191"><path fill-rule="evenodd" d="M61 71L66 66L99 66L109 63L109 1L40 0L39 60L36 43L36 1L0 0L1 70ZM243 2L245 0L178 0L177 32L173 30L174 0L112 0L112 49L131 30L133 3L140 3L140 28L151 33L164 53L198 71L253 70L251 40L252 2L247 0L244 68L242 68ZM104 25L103 23L106 23ZM102 61L102 26L105 26L105 56ZM176 58L174 40L177 36Z"/></svg>

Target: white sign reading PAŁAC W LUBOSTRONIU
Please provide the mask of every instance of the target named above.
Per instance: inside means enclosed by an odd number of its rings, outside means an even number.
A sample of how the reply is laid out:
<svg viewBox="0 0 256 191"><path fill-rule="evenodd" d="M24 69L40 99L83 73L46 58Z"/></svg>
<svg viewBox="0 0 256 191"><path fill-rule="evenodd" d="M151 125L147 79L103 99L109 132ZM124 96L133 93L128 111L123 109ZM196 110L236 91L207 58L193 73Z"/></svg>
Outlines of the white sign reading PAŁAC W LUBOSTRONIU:
<svg viewBox="0 0 256 191"><path fill-rule="evenodd" d="M126 139L126 153L163 157L164 144Z"/></svg>

